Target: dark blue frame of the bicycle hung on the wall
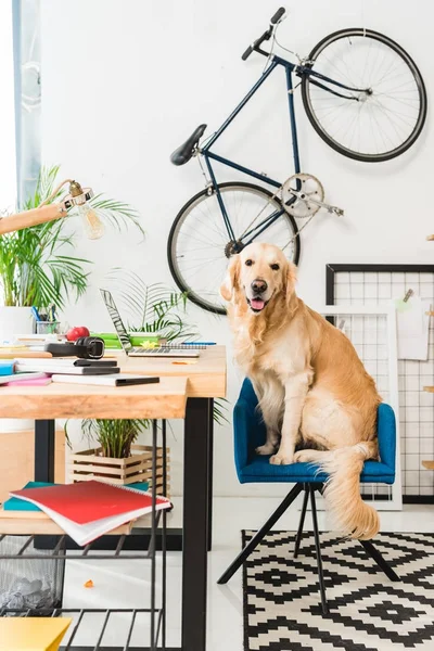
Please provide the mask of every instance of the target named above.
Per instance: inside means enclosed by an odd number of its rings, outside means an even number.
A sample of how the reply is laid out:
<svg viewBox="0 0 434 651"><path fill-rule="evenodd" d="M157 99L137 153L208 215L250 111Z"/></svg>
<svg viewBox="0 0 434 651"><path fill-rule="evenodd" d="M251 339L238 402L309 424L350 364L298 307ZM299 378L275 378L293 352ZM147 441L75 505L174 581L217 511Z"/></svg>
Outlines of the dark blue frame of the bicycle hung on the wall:
<svg viewBox="0 0 434 651"><path fill-rule="evenodd" d="M266 52L263 52L263 51L260 51L260 53L266 54ZM203 148L199 149L199 153L202 154L205 159L206 167L208 169L209 177L210 177L214 190L216 192L217 201L218 201L220 209L221 209L221 214L224 217L226 229L228 231L229 239L234 243L237 242L237 238L232 230L232 226L231 226L228 213L226 210L226 206L225 206L220 190L218 188L216 176L214 174L214 169L210 164L210 161L217 161L218 163L221 163L222 165L232 167L233 169L237 169L238 171L242 171L243 174L246 174L255 179L264 181L265 183L272 186L276 189L280 188L282 186L282 183L275 179L269 178L268 176L266 176L264 174L259 174L259 173L255 171L254 169L244 167L243 165L240 165L239 163L235 163L234 161L230 161L229 158L219 156L218 154L215 154L214 152L212 152L210 148L215 144L215 142L218 140L218 138L221 136L221 133L224 133L226 131L226 129L234 120L234 118L239 115L239 113L246 105L246 103L253 98L253 95L256 93L256 91L263 86L263 84L268 79L268 77L271 75L271 73L279 65L282 65L285 69L286 91L288 91L288 101L289 101L289 110L290 110L291 136L292 136L292 150L293 150L293 161L294 161L295 174L301 173L301 165L299 165L297 127L296 127L296 120L295 120L295 107L294 107L294 87L293 87L293 80L292 80L293 73L295 72L298 76L308 75L311 77L316 77L318 79L328 81L329 84L332 84L333 86L336 86L336 87L345 89L345 90L350 90L350 91L355 91L355 92L365 92L363 89L350 88L348 86L340 84L339 81L334 81L334 79L331 79L330 77L326 77L324 75L321 75L320 73L317 73L316 71L314 71L310 67L310 65L296 65L294 63L291 63L290 61L281 59L280 56L275 55L272 58L269 67L261 74L259 79L256 81L256 84L253 86L253 88L248 91L248 93L245 95L245 98L240 102L240 104L234 108L234 111L224 122L221 127L216 131L216 133L214 133L214 136L210 138L210 140ZM357 100L357 98L355 98L355 97L344 95L344 94L337 92L336 90L328 88L327 86L322 85L320 81L317 81L317 79L311 79L311 84L315 84L316 86L318 86L320 88L323 88L324 90L327 90L328 92L331 92L332 94L337 94L339 97L343 97L348 100ZM299 190L299 188L297 188L297 189ZM290 203L293 203L294 201L295 201L295 196L292 201L290 200L288 203L290 204ZM269 226L271 226L277 219L279 219L279 217L281 215L283 215L283 213L284 213L284 209L275 210L271 215L266 217L256 227L254 227L251 230L248 230L247 232L243 233L242 245L246 246L247 244L253 242L254 238L256 238L257 235L263 233ZM244 241L246 238L251 238L251 239L247 241Z"/></svg>

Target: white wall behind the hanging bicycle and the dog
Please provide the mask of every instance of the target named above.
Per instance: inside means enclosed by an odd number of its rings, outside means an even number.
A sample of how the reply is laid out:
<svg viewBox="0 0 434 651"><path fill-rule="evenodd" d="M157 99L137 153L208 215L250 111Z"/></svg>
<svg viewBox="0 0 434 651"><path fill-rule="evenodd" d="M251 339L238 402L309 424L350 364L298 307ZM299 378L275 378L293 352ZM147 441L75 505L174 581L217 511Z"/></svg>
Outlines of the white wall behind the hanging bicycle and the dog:
<svg viewBox="0 0 434 651"><path fill-rule="evenodd" d="M433 9L429 0L310 0L292 2L280 41L307 54L323 36L353 26L383 31L419 64L430 97ZM169 163L171 151L202 122L217 127L260 74L264 60L241 61L246 46L267 26L278 2L258 0L42 0L43 161L59 162L65 176L142 214L145 243L137 237L80 240L79 254L95 261L92 286L69 322L110 328L98 286L113 266L140 272L149 282L171 282L166 240L175 215L202 177L193 161ZM310 304L324 302L327 263L432 263L431 201L433 129L407 154L380 165L349 161L314 132L297 97L302 167L319 177L327 199L345 208L345 218L320 214L303 233L298 293ZM218 151L285 179L292 174L283 75L264 87L245 119L234 123ZM221 180L233 175L221 170ZM229 344L225 319L195 308L203 336ZM231 356L229 348L229 358ZM240 375L229 365L229 397ZM171 442L180 488L182 438ZM217 427L217 495L266 494L240 487L233 470L231 427ZM281 493L270 487L267 494Z"/></svg>

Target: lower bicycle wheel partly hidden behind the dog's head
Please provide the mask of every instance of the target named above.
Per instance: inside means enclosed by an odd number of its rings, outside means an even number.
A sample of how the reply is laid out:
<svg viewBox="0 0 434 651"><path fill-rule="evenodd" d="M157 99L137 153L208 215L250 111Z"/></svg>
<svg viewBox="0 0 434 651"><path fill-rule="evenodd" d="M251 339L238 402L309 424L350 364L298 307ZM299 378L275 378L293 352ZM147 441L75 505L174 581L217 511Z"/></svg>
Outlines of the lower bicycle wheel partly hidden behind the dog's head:
<svg viewBox="0 0 434 651"><path fill-rule="evenodd" d="M234 239L229 237L216 192L203 190L181 208L167 243L167 257L178 288L190 301L214 314L225 315L219 294L233 245L250 240L284 248L294 264L299 257L299 237L295 220L280 201L259 186L242 182L218 186ZM259 232L258 225L275 213L280 216ZM256 229L256 230L255 230ZM246 237L245 233L248 233Z"/></svg>

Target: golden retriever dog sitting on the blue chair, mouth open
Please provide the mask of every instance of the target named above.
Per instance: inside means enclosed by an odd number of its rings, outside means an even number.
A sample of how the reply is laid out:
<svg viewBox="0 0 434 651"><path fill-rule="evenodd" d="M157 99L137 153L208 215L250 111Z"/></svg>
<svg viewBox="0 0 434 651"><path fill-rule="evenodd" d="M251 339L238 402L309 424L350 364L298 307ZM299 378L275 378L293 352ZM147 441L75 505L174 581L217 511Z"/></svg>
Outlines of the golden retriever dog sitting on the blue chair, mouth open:
<svg viewBox="0 0 434 651"><path fill-rule="evenodd" d="M277 246L254 243L230 259L220 289L267 429L256 451L276 464L318 463L339 528L369 539L380 521L360 497L360 471L378 459L381 398L347 336L296 296L295 270Z"/></svg>

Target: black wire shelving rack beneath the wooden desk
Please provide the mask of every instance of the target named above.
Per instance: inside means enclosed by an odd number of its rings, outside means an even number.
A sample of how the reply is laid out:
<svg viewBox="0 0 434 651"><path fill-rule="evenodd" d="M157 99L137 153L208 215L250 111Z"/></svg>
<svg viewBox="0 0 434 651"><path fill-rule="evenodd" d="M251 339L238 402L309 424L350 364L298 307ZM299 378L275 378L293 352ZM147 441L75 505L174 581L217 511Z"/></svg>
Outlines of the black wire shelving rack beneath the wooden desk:
<svg viewBox="0 0 434 651"><path fill-rule="evenodd" d="M163 488L166 492L167 472L166 472L166 422L162 423L163 435ZM72 616L73 623L66 631L64 642L60 647L61 651L171 651L166 647L166 593L167 593L167 510L156 511L156 444L157 444L157 423L152 422L152 513L143 519L136 521L136 528L132 528L129 534L122 534L114 538L114 548L105 549L101 553L101 547L97 539L85 547L78 547L72 544L72 540L66 535L40 535L40 534L14 534L13 532L0 534L0 560L7 561L15 559L17 561L54 561L53 565L60 565L60 571L63 576L65 561L79 560L150 560L151 561L151 580L150 580L150 608L141 609L120 609L120 608L63 608L63 577L62 591L59 598L53 591L53 601L47 605L47 602L41 604L41 608L35 608L35 602L21 603L20 605L31 605L28 608L9 608L16 603L8 603L5 607L0 607L0 617L60 617ZM145 536L141 528L143 522L150 522L151 527ZM1 531L1 522L0 522ZM31 531L31 529L30 529ZM128 550L128 541L136 535L146 540L143 545L143 550L139 552ZM126 549L125 549L126 548ZM161 601L156 600L156 551L161 550L161 585L162 595ZM123 553L125 551L125 553ZM61 561L59 563L59 561ZM22 566L22 563L17 563ZM10 571L13 572L14 563L11 563ZM5 573L8 582L8 573ZM25 576L21 579L23 583L28 578ZM13 584L12 584L13 585ZM14 588L8 588L13 590ZM17 592L20 589L16 588ZM21 592L24 592L21 590ZM59 608L56 608L59 607ZM127 618L127 615L130 615ZM117 616L117 622L114 622ZM143 617L145 621L143 622ZM92 618L92 622L89 622ZM141 621L141 622L140 622ZM112 629L112 630L111 630ZM81 638L84 642L81 642ZM120 643L119 640L122 639ZM135 641L136 640L136 641ZM90 641L90 644L89 644ZM140 646L131 646L132 643ZM116 646L117 644L117 646ZM179 651L179 649L177 650Z"/></svg>

